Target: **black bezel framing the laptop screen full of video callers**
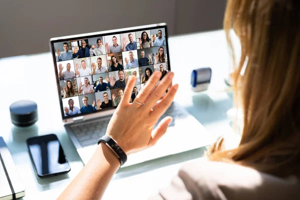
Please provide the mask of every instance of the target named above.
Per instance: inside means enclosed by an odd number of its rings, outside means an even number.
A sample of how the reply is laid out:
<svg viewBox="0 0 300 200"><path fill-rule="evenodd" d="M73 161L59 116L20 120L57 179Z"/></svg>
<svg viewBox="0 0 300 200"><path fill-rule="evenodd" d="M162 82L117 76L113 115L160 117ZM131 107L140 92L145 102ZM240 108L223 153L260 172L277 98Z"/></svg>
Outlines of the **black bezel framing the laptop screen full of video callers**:
<svg viewBox="0 0 300 200"><path fill-rule="evenodd" d="M128 28L120 28L120 29L113 29L113 30L106 30L106 31L99 31L99 32L90 32L90 33L84 33L84 34L76 34L76 35L68 35L68 36L61 36L61 37L53 37L49 40L49 45L50 45L50 51L52 54L52 59L53 59L53 66L54 66L54 71L55 71L55 77L56 77L56 86L57 86L57 94L59 97L59 104L60 104L60 114L63 122L71 122L75 120L76 118L78 119L83 119L83 118L94 118L94 117L99 117L99 113L101 113L101 116L106 116L106 115L111 115L116 106L112 106L109 108L105 108L105 110L95 110L93 112L85 112L85 113L80 113L79 115L75 116L64 116L63 112L63 104L62 104L62 98L60 95L60 86L59 86L59 79L58 79L58 71L57 71L57 64L56 64L56 56L55 56L55 49L54 49L54 43L55 42L61 42L61 41L69 41L69 40L79 40L79 39L84 39L84 38L89 38L89 37L97 37L97 36L105 36L105 35L111 35L111 34L121 34L125 32L136 32L136 31L141 31L144 29L156 29L156 28L164 28L165 31L165 46L166 46L166 53L167 53L167 66L168 66L168 71L170 70L170 59L169 59L169 50L168 50L168 32L167 32L167 24L166 23L157 23L157 24L149 24L149 25L143 25L143 26L134 26L134 27L128 27Z"/></svg>

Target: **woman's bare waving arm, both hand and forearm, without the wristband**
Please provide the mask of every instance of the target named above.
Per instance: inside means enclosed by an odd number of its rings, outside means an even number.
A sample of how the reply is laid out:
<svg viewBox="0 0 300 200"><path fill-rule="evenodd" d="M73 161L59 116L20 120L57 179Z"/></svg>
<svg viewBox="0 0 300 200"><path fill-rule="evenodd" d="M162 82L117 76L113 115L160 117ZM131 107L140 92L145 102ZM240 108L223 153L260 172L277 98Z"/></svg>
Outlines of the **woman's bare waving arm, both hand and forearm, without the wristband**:
<svg viewBox="0 0 300 200"><path fill-rule="evenodd" d="M172 120L170 116L164 117L156 128L152 128L158 118L170 106L177 91L178 85L172 85L169 92L162 98L162 94L171 84L173 75L173 72L169 72L159 81L161 72L154 71L147 81L148 83L135 97L136 103L129 103L136 77L131 76L129 78L121 97L122 100L118 103L118 109L115 110L112 120L109 121L105 134L113 138L127 155L153 146L166 132L167 126ZM154 86L155 89L153 90ZM157 103L160 98L162 100ZM144 103L140 105L141 103L138 102ZM93 109L95 108L93 107ZM132 113L134 113L132 115L134 120L132 120L132 117L127 117L131 116ZM144 118L149 119L147 123L143 123ZM119 121L122 121L122 123L119 123ZM90 160L58 199L101 198L119 166L120 162L115 154L106 144L100 142Z"/></svg>

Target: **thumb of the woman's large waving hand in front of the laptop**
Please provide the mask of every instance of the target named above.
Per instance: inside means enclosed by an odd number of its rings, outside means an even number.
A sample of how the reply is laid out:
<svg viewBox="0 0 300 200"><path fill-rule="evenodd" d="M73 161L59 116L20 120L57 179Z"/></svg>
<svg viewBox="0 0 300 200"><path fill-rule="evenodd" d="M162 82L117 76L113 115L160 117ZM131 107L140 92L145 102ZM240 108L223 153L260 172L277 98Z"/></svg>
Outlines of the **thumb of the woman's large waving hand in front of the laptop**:
<svg viewBox="0 0 300 200"><path fill-rule="evenodd" d="M158 123L157 127L151 132L151 138L147 145L148 147L153 146L158 139L160 139L160 137L166 132L166 129L171 122L172 117L166 116Z"/></svg>

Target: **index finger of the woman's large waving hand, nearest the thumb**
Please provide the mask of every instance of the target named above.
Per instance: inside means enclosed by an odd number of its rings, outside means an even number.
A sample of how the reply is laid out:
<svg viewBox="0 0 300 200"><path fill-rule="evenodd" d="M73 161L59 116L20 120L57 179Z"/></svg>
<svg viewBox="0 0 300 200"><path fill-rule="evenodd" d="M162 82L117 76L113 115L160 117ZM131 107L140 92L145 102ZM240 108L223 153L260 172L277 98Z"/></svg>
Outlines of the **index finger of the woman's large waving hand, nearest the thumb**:
<svg viewBox="0 0 300 200"><path fill-rule="evenodd" d="M178 89L178 84L175 84L171 87L170 91L162 98L162 100L157 103L157 105L153 108L153 111L150 113L153 118L159 118L171 105L174 95L176 94Z"/></svg>

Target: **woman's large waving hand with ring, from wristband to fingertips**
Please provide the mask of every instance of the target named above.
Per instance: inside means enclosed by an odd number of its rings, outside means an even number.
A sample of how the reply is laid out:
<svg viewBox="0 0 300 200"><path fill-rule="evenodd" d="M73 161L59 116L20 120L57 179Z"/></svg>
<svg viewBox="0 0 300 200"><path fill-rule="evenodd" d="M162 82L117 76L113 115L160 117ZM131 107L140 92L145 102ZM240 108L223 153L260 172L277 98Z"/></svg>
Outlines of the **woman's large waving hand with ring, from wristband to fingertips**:
<svg viewBox="0 0 300 200"><path fill-rule="evenodd" d="M153 146L166 132L168 124L171 122L171 117L166 116L153 129L159 117L170 106L178 88L178 85L175 84L164 95L165 90L171 84L173 73L166 74L162 81L159 81L160 76L159 71L153 72L148 83L138 92L136 101L143 102L142 105L134 101L131 104L129 103L136 80L132 76L125 87L118 108L114 111L108 123L106 135L110 136L127 155ZM156 83L158 84L154 88ZM161 98L162 100L157 103L157 100ZM147 118L146 121L145 118ZM122 123L119 121L122 121Z"/></svg>

